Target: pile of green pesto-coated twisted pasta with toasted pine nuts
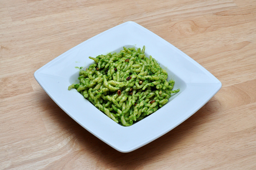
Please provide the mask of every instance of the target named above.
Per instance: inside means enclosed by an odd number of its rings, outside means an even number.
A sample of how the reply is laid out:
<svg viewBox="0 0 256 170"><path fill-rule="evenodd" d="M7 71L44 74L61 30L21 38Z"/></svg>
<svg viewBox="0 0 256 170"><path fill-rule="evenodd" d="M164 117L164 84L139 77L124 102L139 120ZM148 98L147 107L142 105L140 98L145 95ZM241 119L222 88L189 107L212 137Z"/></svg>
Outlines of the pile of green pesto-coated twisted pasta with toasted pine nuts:
<svg viewBox="0 0 256 170"><path fill-rule="evenodd" d="M72 84L100 111L123 126L131 126L168 102L174 80L143 48L123 47L118 53L89 57L95 63L80 70L80 83Z"/></svg>

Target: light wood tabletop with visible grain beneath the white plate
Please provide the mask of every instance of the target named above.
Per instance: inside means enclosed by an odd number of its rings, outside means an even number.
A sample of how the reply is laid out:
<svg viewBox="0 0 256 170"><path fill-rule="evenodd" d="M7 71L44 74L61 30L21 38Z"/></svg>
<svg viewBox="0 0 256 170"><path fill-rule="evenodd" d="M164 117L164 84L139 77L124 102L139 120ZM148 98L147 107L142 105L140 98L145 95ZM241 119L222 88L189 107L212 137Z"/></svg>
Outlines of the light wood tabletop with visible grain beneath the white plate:
<svg viewBox="0 0 256 170"><path fill-rule="evenodd" d="M174 130L120 153L62 111L33 74L126 21L188 54L222 88ZM255 170L256 1L0 0L0 169Z"/></svg>

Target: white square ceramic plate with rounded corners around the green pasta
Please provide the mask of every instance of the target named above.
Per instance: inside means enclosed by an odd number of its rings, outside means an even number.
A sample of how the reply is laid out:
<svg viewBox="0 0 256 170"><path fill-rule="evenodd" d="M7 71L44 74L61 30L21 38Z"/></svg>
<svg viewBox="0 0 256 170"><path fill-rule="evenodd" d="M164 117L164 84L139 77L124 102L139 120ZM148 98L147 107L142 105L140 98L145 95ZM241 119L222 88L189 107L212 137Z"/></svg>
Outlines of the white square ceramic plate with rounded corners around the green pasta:
<svg viewBox="0 0 256 170"><path fill-rule="evenodd" d="M96 57L119 52L123 46L142 48L152 55L174 79L174 94L162 108L132 126L121 126L100 112L76 91L68 90L78 83L79 69L88 67ZM222 84L210 72L178 48L153 32L125 22L102 32L61 54L34 73L46 93L78 124L120 152L131 152L166 134L192 114L220 90Z"/></svg>

